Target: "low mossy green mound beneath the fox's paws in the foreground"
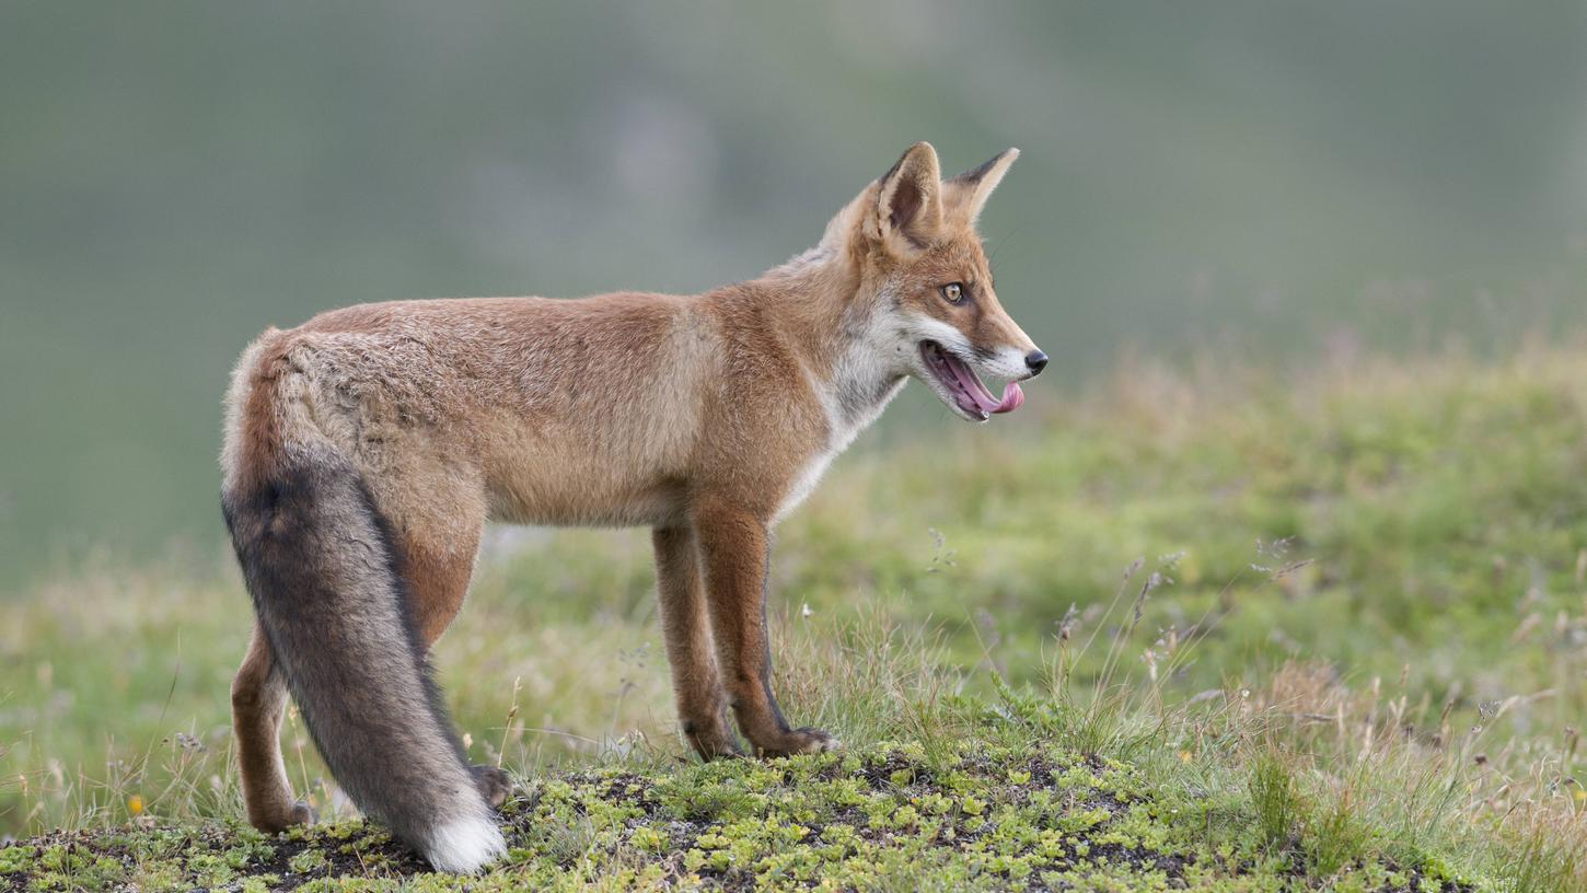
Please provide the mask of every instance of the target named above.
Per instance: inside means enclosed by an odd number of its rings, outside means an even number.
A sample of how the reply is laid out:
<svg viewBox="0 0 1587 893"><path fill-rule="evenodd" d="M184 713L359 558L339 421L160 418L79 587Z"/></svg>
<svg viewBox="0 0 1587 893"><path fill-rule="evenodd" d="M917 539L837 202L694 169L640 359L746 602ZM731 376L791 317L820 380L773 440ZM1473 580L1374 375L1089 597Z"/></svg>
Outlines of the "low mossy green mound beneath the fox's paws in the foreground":
<svg viewBox="0 0 1587 893"><path fill-rule="evenodd" d="M1435 858L1392 864L1351 858L1338 847L1328 863L1270 858L1257 823L1208 836L1192 825L1195 809L1154 788L1135 766L1065 753L1039 739L987 744L997 730L981 731L940 769L930 769L919 749L887 745L843 757L649 774L608 766L536 779L503 809L508 860L467 885L1281 890L1311 877L1308 883L1327 879L1331 890L1470 888ZM6 882L37 890L133 879L149 888L243 890L465 883L427 874L389 834L360 822L275 839L224 823L60 833L0 850L0 868Z"/></svg>

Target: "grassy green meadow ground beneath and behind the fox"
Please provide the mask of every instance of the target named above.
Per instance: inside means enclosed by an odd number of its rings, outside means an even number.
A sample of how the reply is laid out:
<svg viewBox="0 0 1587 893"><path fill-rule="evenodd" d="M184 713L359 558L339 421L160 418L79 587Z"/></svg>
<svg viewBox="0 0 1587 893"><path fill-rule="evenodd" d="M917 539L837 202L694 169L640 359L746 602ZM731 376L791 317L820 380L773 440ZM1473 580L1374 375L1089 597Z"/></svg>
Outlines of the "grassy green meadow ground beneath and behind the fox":
<svg viewBox="0 0 1587 893"><path fill-rule="evenodd" d="M1587 352L1049 390L846 457L779 528L776 687L840 755L692 763L644 533L500 533L436 650L524 782L470 883L1587 885ZM248 628L221 557L0 604L0 888L460 883L295 717L330 822L238 825Z"/></svg>

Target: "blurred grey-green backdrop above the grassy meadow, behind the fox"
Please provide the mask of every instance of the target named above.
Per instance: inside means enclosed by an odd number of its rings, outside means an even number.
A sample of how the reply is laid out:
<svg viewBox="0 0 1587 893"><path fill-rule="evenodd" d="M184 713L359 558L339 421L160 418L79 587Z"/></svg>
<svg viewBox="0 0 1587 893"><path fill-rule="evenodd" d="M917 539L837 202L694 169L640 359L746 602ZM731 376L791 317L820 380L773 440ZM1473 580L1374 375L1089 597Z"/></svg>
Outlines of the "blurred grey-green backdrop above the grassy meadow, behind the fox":
<svg viewBox="0 0 1587 893"><path fill-rule="evenodd" d="M1576 2L10 2L0 592L219 546L265 325L749 278L922 138L1024 149L982 228L1044 389L1512 347L1587 316L1584 86Z"/></svg>

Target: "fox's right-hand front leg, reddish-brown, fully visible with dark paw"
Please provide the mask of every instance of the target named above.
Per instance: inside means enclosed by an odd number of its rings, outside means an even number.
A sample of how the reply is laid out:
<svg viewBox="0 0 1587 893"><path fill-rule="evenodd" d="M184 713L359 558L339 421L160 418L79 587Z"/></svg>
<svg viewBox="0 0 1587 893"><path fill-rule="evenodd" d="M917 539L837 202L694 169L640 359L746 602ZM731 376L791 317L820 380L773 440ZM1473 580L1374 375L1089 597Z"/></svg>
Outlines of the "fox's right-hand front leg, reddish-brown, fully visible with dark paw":
<svg viewBox="0 0 1587 893"><path fill-rule="evenodd" d="M789 728L771 695L765 522L724 504L697 508L694 520L722 687L740 731L765 757L836 749L838 741L825 731Z"/></svg>

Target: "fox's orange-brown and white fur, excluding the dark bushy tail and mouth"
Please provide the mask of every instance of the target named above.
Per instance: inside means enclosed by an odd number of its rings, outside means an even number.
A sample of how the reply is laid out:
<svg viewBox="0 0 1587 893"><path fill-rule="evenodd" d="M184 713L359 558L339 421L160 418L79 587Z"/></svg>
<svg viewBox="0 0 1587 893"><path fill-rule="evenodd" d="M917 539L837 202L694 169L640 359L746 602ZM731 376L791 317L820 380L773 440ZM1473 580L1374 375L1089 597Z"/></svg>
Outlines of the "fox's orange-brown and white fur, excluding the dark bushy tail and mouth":
<svg viewBox="0 0 1587 893"><path fill-rule="evenodd" d="M382 303L267 332L229 393L229 500L290 462L346 462L389 525L424 646L462 604L487 520L654 527L690 744L736 750L732 707L759 753L830 747L790 728L770 690L768 531L908 378L978 417L922 358L928 341L1000 378L1039 371L974 232L1014 154L943 182L919 143L817 247L703 295ZM263 638L235 692L249 818L302 820L275 757L282 684Z"/></svg>

